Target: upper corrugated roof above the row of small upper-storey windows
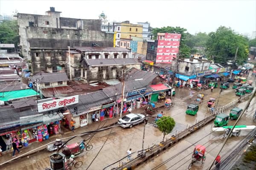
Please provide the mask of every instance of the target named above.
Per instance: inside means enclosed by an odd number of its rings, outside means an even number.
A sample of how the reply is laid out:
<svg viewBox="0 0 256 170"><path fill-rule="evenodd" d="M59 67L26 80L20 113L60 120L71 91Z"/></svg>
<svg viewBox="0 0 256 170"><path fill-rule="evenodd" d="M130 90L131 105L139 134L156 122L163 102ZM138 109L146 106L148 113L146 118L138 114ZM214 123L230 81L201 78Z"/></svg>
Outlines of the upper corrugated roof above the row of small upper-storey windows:
<svg viewBox="0 0 256 170"><path fill-rule="evenodd" d="M120 47L75 47L76 50L79 51L125 51L128 52L130 50L126 48L120 48Z"/></svg>

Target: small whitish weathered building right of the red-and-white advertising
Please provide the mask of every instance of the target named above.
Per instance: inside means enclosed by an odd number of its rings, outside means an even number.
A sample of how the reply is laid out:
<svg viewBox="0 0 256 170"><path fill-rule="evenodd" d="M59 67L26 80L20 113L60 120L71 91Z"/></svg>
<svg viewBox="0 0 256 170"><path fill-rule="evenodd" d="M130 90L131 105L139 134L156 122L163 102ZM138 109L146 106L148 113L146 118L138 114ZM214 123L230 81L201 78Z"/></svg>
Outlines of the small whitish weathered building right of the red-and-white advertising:
<svg viewBox="0 0 256 170"><path fill-rule="evenodd" d="M180 58L178 60L178 73L192 76L199 71L209 70L211 62L202 59Z"/></svg>

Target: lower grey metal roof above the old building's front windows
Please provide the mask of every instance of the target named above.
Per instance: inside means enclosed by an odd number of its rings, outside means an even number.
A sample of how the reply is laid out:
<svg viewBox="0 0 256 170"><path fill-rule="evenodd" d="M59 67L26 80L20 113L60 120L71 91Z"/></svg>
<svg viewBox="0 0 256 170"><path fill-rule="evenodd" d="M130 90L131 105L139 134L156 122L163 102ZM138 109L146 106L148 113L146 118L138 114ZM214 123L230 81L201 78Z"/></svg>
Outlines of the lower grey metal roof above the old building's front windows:
<svg viewBox="0 0 256 170"><path fill-rule="evenodd" d="M86 59L84 61L88 66L102 66L102 65L123 65L125 64L140 64L135 58L124 58L124 59Z"/></svg>

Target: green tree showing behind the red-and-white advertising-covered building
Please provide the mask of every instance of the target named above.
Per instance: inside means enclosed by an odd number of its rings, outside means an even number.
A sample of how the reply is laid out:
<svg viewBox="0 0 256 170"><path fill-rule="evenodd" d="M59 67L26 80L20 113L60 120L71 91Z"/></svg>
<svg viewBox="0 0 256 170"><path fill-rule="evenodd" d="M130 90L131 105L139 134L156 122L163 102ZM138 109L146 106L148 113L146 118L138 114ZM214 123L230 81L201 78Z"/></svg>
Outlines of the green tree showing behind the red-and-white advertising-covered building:
<svg viewBox="0 0 256 170"><path fill-rule="evenodd" d="M186 33L185 28L180 28L180 27L172 27L172 26L167 26L167 27L162 27L162 28L152 28L152 34L153 34L153 39L157 39L157 33L175 33L175 34L181 34L181 39L180 39L180 57L187 57L190 55L190 48L188 45L186 45L186 37L188 33Z"/></svg>

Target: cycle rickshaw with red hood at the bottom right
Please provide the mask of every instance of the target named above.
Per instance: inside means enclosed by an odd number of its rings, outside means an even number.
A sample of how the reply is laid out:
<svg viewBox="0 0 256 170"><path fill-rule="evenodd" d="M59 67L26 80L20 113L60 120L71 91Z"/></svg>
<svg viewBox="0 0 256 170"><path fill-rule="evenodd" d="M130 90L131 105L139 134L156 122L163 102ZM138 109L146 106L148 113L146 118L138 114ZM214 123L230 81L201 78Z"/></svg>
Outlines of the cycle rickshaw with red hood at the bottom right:
<svg viewBox="0 0 256 170"><path fill-rule="evenodd" d="M191 163L189 164L189 170L191 169L192 165L196 162L196 161L201 161L202 160L202 164L204 163L205 161L205 149L206 147L204 147L203 145L200 145L198 144L195 148L194 148L194 151L193 151L193 154L192 154L192 160L191 160Z"/></svg>

